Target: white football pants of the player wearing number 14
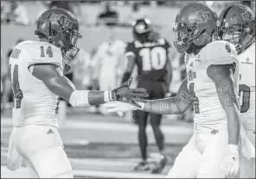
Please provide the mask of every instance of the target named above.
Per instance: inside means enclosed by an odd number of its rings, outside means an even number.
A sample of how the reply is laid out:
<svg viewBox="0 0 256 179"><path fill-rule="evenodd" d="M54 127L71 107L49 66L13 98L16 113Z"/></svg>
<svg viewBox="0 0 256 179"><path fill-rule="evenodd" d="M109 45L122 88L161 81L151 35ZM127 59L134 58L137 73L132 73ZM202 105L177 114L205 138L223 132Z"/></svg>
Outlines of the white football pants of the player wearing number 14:
<svg viewBox="0 0 256 179"><path fill-rule="evenodd" d="M73 178L71 164L55 127L14 127L10 135L8 168L17 170L22 159L29 174L40 178Z"/></svg>

